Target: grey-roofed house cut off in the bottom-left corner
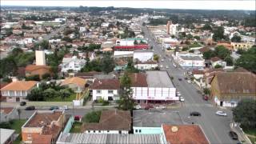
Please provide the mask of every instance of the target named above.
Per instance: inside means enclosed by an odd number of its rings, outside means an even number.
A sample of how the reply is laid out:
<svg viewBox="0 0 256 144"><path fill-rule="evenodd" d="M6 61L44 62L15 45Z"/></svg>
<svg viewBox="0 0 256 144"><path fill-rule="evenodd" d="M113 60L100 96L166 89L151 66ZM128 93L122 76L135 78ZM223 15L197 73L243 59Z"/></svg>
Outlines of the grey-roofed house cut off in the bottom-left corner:
<svg viewBox="0 0 256 144"><path fill-rule="evenodd" d="M2 129L0 128L0 143L1 144L12 144L15 140L15 130Z"/></svg>

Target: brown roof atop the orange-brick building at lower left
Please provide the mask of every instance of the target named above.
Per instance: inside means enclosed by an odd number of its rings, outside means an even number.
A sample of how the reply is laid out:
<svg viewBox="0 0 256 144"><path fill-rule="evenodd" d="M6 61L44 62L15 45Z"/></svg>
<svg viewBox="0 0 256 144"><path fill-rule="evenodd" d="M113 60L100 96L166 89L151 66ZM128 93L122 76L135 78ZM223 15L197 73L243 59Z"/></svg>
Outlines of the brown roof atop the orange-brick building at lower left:
<svg viewBox="0 0 256 144"><path fill-rule="evenodd" d="M54 113L36 113L24 127L42 127L50 125L50 122L58 121L61 115L62 112L60 111L54 111Z"/></svg>

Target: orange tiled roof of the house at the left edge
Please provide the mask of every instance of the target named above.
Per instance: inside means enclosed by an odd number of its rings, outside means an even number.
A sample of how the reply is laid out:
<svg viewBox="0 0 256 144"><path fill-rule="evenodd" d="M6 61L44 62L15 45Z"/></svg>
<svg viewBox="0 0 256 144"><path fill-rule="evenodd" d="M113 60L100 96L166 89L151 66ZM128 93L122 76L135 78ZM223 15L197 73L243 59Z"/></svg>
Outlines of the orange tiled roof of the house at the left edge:
<svg viewBox="0 0 256 144"><path fill-rule="evenodd" d="M7 86L4 86L1 90L30 90L37 82L35 81L17 81L11 82Z"/></svg>

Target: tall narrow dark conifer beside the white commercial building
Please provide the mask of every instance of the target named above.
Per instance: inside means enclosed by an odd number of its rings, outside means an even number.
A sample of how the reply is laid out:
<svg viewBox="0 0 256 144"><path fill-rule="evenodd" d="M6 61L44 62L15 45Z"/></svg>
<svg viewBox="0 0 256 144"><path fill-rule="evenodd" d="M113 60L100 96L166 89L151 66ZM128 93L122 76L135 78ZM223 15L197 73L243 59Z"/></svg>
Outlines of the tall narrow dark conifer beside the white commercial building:
<svg viewBox="0 0 256 144"><path fill-rule="evenodd" d="M120 79L121 90L120 90L120 100L118 100L118 108L121 110L133 110L134 100L132 97L131 79L126 72Z"/></svg>

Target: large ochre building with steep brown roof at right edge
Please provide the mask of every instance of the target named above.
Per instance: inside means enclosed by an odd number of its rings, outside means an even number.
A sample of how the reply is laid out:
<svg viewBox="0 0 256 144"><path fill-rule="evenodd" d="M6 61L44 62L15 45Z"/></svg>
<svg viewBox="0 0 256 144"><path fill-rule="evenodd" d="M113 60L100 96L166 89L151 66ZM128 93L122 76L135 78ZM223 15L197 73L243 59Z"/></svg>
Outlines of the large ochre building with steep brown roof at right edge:
<svg viewBox="0 0 256 144"><path fill-rule="evenodd" d="M218 106L237 106L244 98L256 98L256 75L250 72L222 72L211 81L211 96Z"/></svg>

